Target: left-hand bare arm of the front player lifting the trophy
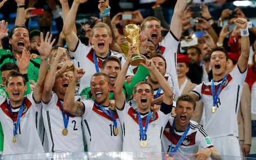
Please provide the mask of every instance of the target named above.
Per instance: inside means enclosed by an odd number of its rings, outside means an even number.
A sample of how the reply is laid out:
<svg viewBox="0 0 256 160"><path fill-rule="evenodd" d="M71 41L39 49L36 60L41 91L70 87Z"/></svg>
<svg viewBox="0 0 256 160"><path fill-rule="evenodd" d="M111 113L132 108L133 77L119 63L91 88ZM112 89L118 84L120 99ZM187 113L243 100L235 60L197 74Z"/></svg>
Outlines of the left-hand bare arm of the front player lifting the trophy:
<svg viewBox="0 0 256 160"><path fill-rule="evenodd" d="M114 95L115 95L116 107L119 110L122 110L123 107L124 107L125 95L123 93L123 85L124 85L127 70L129 68L129 65L130 65L131 57L132 57L133 54L139 54L138 51L134 50L135 47L136 47L135 45L132 45L132 46L129 47L127 59L124 63L123 68L121 69L120 73L118 74L118 76L116 78Z"/></svg>

